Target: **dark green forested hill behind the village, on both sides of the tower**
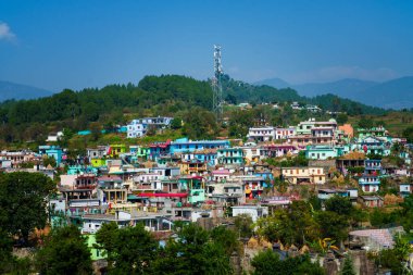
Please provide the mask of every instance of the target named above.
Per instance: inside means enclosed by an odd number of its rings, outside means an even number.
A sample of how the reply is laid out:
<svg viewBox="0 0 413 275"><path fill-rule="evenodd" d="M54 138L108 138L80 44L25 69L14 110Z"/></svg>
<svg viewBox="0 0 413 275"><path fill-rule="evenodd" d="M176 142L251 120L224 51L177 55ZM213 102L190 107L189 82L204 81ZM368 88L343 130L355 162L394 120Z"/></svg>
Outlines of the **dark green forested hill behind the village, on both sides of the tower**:
<svg viewBox="0 0 413 275"><path fill-rule="evenodd" d="M253 86L224 76L224 98L228 102L286 102L320 104L326 110L350 114L378 114L384 110L327 95L312 99L292 89ZM50 128L85 129L99 121L105 127L126 123L125 114L174 115L193 107L211 110L212 89L206 80L186 76L146 76L138 85L110 85L101 89L63 90L51 97L9 100L0 104L0 140L33 140Z"/></svg>

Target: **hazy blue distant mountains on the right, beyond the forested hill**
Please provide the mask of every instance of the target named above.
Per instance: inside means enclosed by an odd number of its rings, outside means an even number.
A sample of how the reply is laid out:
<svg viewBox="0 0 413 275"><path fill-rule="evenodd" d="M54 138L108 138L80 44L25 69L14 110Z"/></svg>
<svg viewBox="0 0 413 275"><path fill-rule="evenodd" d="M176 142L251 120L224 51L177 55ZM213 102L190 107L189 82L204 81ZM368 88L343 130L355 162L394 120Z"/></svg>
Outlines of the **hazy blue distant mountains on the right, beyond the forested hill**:
<svg viewBox="0 0 413 275"><path fill-rule="evenodd" d="M305 97L333 93L367 105L386 109L413 108L413 76L396 78L385 83L346 78L330 83L289 85L280 78L271 78L254 84L268 85L275 88L290 87Z"/></svg>

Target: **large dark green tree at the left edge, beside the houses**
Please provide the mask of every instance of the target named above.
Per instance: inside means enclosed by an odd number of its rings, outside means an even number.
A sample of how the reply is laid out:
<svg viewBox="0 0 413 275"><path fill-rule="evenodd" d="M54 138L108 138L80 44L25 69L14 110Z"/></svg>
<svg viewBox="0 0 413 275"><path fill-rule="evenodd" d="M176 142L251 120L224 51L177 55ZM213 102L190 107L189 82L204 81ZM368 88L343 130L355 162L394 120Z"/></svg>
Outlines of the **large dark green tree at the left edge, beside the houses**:
<svg viewBox="0 0 413 275"><path fill-rule="evenodd" d="M0 222L9 234L28 239L35 228L47 222L46 198L55 185L40 173L0 174Z"/></svg>

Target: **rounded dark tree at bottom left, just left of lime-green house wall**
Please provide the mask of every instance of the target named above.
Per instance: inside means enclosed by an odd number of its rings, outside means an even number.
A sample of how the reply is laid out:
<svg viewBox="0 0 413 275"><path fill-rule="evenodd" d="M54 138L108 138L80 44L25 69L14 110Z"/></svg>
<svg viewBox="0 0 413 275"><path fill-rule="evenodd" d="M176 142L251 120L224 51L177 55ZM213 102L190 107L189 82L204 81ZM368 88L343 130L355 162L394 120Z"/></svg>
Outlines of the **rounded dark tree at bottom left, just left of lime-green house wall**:
<svg viewBox="0 0 413 275"><path fill-rule="evenodd" d="M36 255L40 274L91 274L90 250L76 226L53 230Z"/></svg>

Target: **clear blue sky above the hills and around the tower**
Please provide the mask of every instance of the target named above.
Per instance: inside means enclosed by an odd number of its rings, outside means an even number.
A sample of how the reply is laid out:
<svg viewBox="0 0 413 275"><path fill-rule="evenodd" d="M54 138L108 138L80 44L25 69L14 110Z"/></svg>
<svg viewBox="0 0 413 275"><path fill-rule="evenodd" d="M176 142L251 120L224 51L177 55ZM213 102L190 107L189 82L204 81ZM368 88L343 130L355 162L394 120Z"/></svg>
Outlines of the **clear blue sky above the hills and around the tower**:
<svg viewBox="0 0 413 275"><path fill-rule="evenodd" d="M413 75L413 1L0 0L0 80L51 91L145 75L249 83Z"/></svg>

